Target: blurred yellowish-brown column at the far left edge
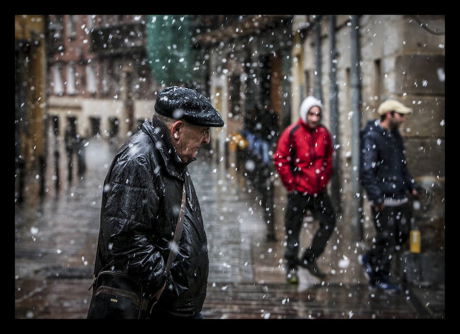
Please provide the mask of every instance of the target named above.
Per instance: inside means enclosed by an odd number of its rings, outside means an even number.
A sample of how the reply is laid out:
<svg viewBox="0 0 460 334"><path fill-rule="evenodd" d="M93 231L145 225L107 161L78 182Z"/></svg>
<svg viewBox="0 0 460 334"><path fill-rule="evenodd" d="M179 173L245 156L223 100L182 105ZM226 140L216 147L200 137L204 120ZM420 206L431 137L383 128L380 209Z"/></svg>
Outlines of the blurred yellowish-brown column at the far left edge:
<svg viewBox="0 0 460 334"><path fill-rule="evenodd" d="M15 40L15 199L24 192L44 193L44 156L46 132L46 43L44 15L16 15ZM33 174L39 187L25 185L26 175ZM38 193L37 193L38 192Z"/></svg>

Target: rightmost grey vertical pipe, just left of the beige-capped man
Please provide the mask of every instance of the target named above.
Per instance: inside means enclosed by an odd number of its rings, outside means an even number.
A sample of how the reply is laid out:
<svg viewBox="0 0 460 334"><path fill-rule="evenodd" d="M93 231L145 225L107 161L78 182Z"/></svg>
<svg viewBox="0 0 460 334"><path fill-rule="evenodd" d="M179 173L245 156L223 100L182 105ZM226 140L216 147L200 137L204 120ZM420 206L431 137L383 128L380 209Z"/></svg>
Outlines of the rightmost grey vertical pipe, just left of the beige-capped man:
<svg viewBox="0 0 460 334"><path fill-rule="evenodd" d="M359 159L361 129L361 80L360 80L360 46L359 46L359 17L351 17L351 125L352 125L352 226L358 241L363 240L362 196L359 182Z"/></svg>

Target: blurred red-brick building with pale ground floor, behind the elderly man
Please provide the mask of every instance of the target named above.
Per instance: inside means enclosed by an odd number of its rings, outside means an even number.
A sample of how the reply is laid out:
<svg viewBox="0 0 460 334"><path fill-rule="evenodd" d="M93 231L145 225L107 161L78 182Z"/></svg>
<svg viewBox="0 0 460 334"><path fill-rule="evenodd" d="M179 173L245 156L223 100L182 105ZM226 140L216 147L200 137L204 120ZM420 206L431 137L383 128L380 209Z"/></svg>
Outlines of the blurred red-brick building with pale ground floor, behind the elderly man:
<svg viewBox="0 0 460 334"><path fill-rule="evenodd" d="M126 138L151 117L153 81L143 15L50 15L49 106L54 126Z"/></svg>

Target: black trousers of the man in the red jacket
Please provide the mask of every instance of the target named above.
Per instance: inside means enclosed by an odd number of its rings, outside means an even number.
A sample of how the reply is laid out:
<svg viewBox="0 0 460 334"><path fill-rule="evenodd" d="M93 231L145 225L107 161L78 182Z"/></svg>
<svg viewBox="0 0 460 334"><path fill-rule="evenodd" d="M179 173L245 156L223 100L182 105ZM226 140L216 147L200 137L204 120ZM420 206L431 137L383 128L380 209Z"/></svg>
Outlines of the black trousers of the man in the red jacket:
<svg viewBox="0 0 460 334"><path fill-rule="evenodd" d="M310 210L313 217L319 221L311 246L304 252L302 260L314 261L323 253L335 226L335 213L332 202L326 191L317 196L304 195L294 191L288 194L284 226L286 228L286 251L284 257L288 268L297 265L299 235L305 213Z"/></svg>

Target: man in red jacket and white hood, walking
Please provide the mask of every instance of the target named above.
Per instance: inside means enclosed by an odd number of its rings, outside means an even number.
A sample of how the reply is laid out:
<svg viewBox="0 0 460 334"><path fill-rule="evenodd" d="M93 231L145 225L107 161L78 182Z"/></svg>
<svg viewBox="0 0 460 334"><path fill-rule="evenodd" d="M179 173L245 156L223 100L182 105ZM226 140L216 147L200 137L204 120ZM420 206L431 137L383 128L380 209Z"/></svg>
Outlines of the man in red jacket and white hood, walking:
<svg viewBox="0 0 460 334"><path fill-rule="evenodd" d="M335 227L335 213L326 186L332 173L332 137L320 124L321 101L308 96L301 105L300 119L288 126L278 141L274 165L288 193L285 214L287 281L298 283L297 266L318 278L326 274L316 265ZM310 210L319 228L301 259L298 259L302 221Z"/></svg>

